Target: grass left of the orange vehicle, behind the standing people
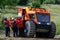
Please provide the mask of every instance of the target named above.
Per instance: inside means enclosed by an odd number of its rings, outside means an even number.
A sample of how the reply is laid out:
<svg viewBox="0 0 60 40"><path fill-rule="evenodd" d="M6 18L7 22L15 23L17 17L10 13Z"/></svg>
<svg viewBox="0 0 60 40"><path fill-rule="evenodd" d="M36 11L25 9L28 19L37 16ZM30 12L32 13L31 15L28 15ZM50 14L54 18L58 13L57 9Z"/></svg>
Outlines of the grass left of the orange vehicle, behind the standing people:
<svg viewBox="0 0 60 40"><path fill-rule="evenodd" d="M2 12L3 10L0 9L0 12ZM17 10L16 9L5 9L5 12L3 11L0 14L0 30L3 30L4 27L2 25L2 18L3 17L7 17L8 19L10 19L10 17L17 17Z"/></svg>

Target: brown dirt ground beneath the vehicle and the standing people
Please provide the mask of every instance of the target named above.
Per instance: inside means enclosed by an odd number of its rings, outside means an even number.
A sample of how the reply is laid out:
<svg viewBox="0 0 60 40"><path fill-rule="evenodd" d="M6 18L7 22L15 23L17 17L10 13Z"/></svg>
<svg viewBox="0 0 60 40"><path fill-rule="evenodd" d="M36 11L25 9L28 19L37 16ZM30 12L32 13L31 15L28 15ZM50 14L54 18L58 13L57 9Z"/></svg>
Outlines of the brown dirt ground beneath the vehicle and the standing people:
<svg viewBox="0 0 60 40"><path fill-rule="evenodd" d="M12 34L11 34L12 36ZM14 38L14 37L5 37L4 32L0 31L0 40L60 40L60 35L56 35L54 39L46 39L46 38Z"/></svg>

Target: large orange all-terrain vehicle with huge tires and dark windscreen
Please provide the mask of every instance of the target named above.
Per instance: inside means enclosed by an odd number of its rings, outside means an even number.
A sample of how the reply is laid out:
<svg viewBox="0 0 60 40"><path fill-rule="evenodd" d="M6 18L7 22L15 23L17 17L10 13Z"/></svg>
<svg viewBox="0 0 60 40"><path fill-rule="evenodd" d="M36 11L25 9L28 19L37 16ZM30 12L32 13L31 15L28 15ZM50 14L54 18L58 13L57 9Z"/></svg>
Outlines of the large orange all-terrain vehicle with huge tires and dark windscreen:
<svg viewBox="0 0 60 40"><path fill-rule="evenodd" d="M23 15L24 26L27 29L28 37L45 36L54 38L56 25L51 21L51 15L45 8L18 8L18 16Z"/></svg>

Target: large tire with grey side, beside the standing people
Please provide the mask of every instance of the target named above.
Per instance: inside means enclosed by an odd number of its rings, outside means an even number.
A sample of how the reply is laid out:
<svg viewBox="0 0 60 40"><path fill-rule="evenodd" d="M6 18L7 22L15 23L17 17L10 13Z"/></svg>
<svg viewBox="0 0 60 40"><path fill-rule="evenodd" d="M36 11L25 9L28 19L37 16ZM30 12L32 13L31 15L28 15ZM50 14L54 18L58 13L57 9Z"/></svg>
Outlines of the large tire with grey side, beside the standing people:
<svg viewBox="0 0 60 40"><path fill-rule="evenodd" d="M27 35L27 37L34 37L34 34L35 34L35 24L33 21L26 21L25 22L25 26L26 26L26 29L27 29L27 33L29 35Z"/></svg>

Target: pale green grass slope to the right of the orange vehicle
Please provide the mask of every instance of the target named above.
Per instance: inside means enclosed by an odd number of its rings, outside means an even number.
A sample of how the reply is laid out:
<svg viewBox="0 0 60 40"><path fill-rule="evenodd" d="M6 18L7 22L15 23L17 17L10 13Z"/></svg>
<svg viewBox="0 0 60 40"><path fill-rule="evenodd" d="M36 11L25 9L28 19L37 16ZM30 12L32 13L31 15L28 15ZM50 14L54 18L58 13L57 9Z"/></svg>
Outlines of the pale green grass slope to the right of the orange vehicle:
<svg viewBox="0 0 60 40"><path fill-rule="evenodd" d="M52 21L56 24L56 34L60 35L60 5L42 5L43 8L47 8L52 16Z"/></svg>

